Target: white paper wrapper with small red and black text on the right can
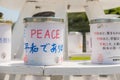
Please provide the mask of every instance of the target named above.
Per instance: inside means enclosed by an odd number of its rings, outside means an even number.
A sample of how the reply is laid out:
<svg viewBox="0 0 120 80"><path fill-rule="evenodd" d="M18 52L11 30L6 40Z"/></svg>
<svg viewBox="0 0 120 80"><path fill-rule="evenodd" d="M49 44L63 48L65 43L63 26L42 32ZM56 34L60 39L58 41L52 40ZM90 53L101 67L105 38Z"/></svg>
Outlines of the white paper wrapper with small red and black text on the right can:
<svg viewBox="0 0 120 80"><path fill-rule="evenodd" d="M120 63L120 23L91 24L92 62Z"/></svg>

